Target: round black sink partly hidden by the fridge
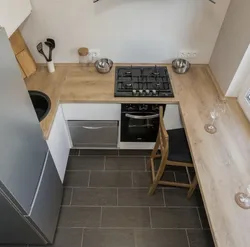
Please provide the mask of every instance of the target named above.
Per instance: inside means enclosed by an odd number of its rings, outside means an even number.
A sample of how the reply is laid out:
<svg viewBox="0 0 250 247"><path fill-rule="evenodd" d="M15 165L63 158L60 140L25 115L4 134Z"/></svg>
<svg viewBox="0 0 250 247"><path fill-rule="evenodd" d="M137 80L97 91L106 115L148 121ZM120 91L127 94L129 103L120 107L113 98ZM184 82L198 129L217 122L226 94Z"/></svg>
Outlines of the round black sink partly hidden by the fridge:
<svg viewBox="0 0 250 247"><path fill-rule="evenodd" d="M41 122L49 113L51 101L48 95L40 91L29 91L32 104L35 108L39 122Z"/></svg>

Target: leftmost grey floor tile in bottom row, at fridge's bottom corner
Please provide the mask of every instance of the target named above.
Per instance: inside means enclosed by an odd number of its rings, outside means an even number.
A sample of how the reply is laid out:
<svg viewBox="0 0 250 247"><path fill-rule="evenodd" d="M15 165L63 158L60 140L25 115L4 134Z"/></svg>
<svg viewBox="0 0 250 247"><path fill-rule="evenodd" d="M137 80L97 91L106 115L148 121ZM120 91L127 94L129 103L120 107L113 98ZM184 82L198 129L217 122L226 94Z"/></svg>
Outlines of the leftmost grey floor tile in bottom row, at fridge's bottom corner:
<svg viewBox="0 0 250 247"><path fill-rule="evenodd" d="M57 229L52 247L80 247L83 229L59 228Z"/></svg>

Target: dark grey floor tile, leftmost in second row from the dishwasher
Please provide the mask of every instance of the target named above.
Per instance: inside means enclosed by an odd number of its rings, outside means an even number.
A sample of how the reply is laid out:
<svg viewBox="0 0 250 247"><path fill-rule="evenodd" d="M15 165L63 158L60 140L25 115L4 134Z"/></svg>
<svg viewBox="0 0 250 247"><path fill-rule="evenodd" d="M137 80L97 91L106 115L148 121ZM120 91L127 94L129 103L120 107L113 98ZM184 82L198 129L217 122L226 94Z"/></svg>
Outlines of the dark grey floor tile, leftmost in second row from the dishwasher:
<svg viewBox="0 0 250 247"><path fill-rule="evenodd" d="M71 156L67 170L104 170L104 156Z"/></svg>

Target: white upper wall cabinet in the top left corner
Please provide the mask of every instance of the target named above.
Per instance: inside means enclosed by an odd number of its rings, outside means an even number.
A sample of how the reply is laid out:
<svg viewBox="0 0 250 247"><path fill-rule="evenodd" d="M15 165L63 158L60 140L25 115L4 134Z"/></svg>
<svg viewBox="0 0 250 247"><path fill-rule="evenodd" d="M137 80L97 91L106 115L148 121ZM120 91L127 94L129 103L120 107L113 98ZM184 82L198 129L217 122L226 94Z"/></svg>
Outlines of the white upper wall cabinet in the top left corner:
<svg viewBox="0 0 250 247"><path fill-rule="evenodd" d="M1 0L0 26L5 28L8 37L23 23L31 9L30 0Z"/></svg>

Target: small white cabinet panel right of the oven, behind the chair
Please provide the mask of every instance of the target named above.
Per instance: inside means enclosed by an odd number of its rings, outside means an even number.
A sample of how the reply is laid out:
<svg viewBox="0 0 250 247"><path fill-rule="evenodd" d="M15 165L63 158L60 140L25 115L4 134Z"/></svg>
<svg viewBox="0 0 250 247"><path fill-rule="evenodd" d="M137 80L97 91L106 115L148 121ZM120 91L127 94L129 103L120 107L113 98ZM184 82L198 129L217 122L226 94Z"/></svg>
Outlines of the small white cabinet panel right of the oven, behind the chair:
<svg viewBox="0 0 250 247"><path fill-rule="evenodd" d="M164 124L167 130L183 128L179 105L166 105Z"/></svg>

